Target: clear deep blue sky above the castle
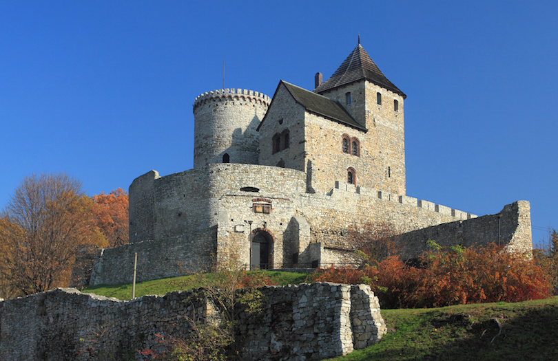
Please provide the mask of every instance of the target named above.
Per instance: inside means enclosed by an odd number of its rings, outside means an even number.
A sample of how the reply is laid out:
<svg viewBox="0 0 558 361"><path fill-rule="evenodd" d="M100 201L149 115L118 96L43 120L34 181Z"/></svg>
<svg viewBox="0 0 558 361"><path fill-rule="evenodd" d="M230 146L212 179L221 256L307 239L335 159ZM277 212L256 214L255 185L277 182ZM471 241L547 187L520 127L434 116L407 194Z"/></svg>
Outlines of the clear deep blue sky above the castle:
<svg viewBox="0 0 558 361"><path fill-rule="evenodd" d="M207 3L208 5L205 5ZM407 194L558 228L556 1L0 3L0 208L25 175L87 194L192 168L199 94L313 88L361 43L405 100Z"/></svg>

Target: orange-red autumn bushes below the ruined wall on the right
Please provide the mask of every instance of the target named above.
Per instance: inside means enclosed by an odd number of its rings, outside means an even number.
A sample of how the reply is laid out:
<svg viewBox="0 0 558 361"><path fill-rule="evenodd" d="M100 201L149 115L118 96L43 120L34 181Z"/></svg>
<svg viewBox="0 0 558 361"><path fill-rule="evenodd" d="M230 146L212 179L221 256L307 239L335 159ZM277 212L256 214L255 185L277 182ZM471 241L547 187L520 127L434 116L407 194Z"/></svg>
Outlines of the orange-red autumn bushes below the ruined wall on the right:
<svg viewBox="0 0 558 361"><path fill-rule="evenodd" d="M311 280L369 283L386 308L519 302L552 294L548 274L533 259L495 244L443 248L420 260L420 267L409 267L389 256L362 270L318 270Z"/></svg>

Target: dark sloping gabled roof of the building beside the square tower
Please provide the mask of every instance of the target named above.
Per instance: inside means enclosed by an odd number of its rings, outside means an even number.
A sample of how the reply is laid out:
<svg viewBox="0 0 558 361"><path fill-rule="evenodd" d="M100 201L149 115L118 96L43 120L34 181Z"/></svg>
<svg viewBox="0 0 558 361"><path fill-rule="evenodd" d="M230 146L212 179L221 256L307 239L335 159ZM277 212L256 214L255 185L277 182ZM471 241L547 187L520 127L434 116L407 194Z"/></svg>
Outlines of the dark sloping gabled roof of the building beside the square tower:
<svg viewBox="0 0 558 361"><path fill-rule="evenodd" d="M293 99L307 111L311 111L312 113L329 118L335 122L347 125L347 127L359 129L365 132L368 131L368 129L362 127L361 124L354 120L351 114L347 113L339 102L335 102L334 100L326 98L320 94L313 93L307 89L297 87L296 85L287 83L284 80L279 82L277 90L281 84L285 85L285 88L289 91L289 94L291 94ZM277 90L275 91L275 94L277 94ZM273 95L273 100L275 100L275 95ZM271 100L269 108L273 105L273 100ZM267 118L267 114L260 123L260 126L265 121L265 118ZM258 129L260 129L260 127L258 127Z"/></svg>

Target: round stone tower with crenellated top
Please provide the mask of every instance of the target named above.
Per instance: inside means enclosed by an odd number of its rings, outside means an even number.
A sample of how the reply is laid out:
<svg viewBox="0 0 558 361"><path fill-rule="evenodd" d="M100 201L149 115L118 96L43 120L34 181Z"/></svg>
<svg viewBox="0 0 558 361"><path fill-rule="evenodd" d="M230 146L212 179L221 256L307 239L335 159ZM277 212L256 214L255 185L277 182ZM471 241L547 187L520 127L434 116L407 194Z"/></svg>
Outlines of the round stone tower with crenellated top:
<svg viewBox="0 0 558 361"><path fill-rule="evenodd" d="M271 98L219 89L194 100L194 168L209 163L258 164L258 132Z"/></svg>

